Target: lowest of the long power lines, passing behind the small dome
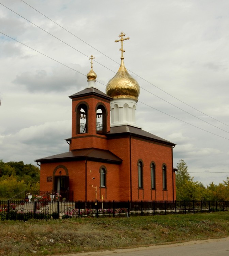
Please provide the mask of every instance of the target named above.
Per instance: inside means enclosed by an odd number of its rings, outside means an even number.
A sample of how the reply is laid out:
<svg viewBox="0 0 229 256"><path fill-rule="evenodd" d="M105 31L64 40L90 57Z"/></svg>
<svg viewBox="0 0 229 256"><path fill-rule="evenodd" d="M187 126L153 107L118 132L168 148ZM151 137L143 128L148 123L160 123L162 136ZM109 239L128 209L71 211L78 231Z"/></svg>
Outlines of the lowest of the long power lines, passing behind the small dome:
<svg viewBox="0 0 229 256"><path fill-rule="evenodd" d="M74 71L76 71L77 73L79 73L79 74L81 74L81 75L86 76L85 74L82 74L81 72L79 72L79 71L77 71L77 70L75 70L75 69L73 69L73 68L71 68L71 67L68 67L67 65L63 64L62 62L60 62L60 61L58 61L58 60L55 60L55 59L53 59L53 58L47 56L46 54L43 54L43 53L41 53L41 52L35 50L34 48L32 48L32 47L30 47L30 46L28 46L28 45L26 45L26 44L24 44L24 43L21 43L20 41L14 39L14 38L12 38L12 37L10 37L9 35L6 35L5 33L1 32L1 31L0 31L0 33L3 34L3 35L5 35L6 37L9 37L9 38L11 38L12 40L15 40L16 42L18 42L18 43L20 43L20 44L22 44L22 45L24 45L24 46L26 46L26 47L32 49L33 51L35 51L35 52L37 52L37 53L40 53L40 54L42 54L43 56L45 56L45 57L47 57L47 58L49 58L49 59L51 59L51 60L54 60L54 61L60 63L61 65L65 66L65 67L67 67L67 68L70 68L70 69L72 69L72 70L74 70ZM103 83L101 83L101 82L99 82L99 81L97 81L97 82L100 83L100 84L102 84L102 85L104 85L104 86L106 86L105 84L103 84ZM193 126L193 127L196 127L196 128L198 128L198 129L200 129L200 130L202 130L202 131L211 133L211 134L213 134L213 135L215 135L215 136L217 136L217 137L220 137L220 138L229 140L228 138L225 138L225 137L220 136L220 135L218 135L218 134L215 134L215 133L213 133L213 132L210 132L210 131L207 131L207 130L205 130L205 129L202 129L202 128L198 127L198 126L195 126L195 125L192 125L192 124L190 124L190 123L188 123L188 122L185 122L184 120L181 120L181 119L179 119L179 118L177 118L177 117L174 117L174 116L172 116L172 115L169 115L169 114L167 114L167 113L165 113L165 112L163 112L163 111L161 111L161 110L158 110L158 109L156 109L156 108L153 108L152 106L150 106L150 105L148 105L148 104L146 104L146 103L143 103L143 102L141 102L141 101L139 101L139 102L142 103L142 104L144 104L144 105L146 105L146 106L149 106L150 108L152 108L152 109L154 109L154 110L157 110L157 111L159 111L159 112L161 112L161 113L163 113L163 114L165 114L165 115L168 115L168 116L170 116L170 117L172 117L172 118L175 118L175 119L177 119L177 120L179 120L179 121L181 121L181 122L183 122L183 123L186 123L186 124L188 124L188 125L191 125L191 126Z"/></svg>

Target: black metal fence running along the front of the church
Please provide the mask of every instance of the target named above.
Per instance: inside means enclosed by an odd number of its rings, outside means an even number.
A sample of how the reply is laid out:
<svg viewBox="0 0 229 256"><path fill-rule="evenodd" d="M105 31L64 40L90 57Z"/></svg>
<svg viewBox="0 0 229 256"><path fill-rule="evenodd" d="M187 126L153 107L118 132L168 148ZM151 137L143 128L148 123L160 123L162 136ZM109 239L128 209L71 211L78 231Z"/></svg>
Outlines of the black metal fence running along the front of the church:
<svg viewBox="0 0 229 256"><path fill-rule="evenodd" d="M0 221L130 217L229 211L229 201L0 201Z"/></svg>

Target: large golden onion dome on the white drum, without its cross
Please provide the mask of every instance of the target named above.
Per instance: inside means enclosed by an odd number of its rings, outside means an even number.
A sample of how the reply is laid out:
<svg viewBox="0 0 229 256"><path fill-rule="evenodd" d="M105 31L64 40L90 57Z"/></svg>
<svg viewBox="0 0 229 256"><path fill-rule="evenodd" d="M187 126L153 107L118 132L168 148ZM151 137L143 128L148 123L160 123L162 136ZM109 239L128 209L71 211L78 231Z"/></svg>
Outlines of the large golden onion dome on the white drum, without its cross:
<svg viewBox="0 0 229 256"><path fill-rule="evenodd" d="M138 82L128 73L123 58L117 74L107 83L106 94L113 99L131 98L138 100L140 87Z"/></svg>

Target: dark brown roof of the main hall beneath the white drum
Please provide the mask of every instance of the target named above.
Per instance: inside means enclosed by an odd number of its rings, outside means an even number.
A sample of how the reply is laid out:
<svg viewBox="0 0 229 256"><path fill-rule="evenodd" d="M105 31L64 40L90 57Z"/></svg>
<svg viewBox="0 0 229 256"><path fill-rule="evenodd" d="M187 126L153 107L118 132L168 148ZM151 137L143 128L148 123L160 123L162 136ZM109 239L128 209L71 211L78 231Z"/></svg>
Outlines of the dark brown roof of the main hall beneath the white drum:
<svg viewBox="0 0 229 256"><path fill-rule="evenodd" d="M140 137L143 139L150 139L156 142L160 142L160 143L164 143L164 144L168 144L168 145L172 145L175 146L176 144L162 139L150 132L144 131L141 128L137 128L134 126L130 126L130 125L122 125L122 126L115 126L115 127L110 127L110 132L107 133L108 138L109 137L114 137L114 136L120 136L120 135L124 135L124 134L132 134L136 137Z"/></svg>

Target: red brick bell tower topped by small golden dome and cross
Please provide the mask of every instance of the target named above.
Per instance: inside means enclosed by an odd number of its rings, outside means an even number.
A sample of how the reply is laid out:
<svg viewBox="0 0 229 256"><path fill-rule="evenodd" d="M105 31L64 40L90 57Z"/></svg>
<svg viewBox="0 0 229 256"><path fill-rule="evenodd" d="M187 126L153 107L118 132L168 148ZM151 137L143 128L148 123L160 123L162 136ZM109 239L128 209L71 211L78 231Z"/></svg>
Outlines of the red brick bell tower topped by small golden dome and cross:
<svg viewBox="0 0 229 256"><path fill-rule="evenodd" d="M106 133L110 131L111 97L95 87L96 73L93 71L93 55L91 70L87 74L88 87L69 96L72 99L72 138L70 151L82 148L101 148L107 150Z"/></svg>

